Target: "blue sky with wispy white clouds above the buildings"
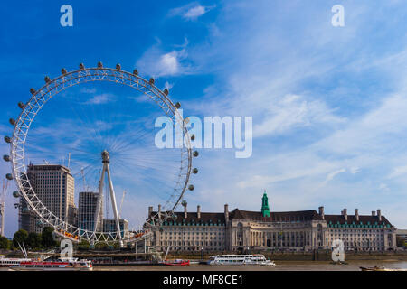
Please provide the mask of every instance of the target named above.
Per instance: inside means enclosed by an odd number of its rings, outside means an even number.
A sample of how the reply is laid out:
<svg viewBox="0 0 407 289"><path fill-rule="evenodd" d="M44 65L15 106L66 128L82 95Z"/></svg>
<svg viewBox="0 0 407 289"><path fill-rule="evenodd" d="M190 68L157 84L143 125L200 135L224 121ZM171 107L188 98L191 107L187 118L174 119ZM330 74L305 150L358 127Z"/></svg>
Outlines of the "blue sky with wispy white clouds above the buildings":
<svg viewBox="0 0 407 289"><path fill-rule="evenodd" d="M60 23L64 4L73 8L73 26ZM345 26L331 23L337 4L344 6ZM251 157L235 158L233 149L199 150L193 165L199 173L191 179L195 190L185 193L188 210L199 204L203 211L222 211L225 203L231 210L260 210L266 190L270 210L325 206L327 214L357 208L368 215L382 209L396 228L406 228L406 16L407 4L396 0L17 0L0 11L0 133L12 134L8 118L18 116L18 101L28 100L30 88L42 87L45 75L55 78L80 62L86 67L120 63L123 70L137 68L142 77L154 77L158 88L168 88L185 117L252 117ZM70 99L80 116L63 105ZM139 113L127 106L132 99ZM159 115L136 92L99 84L67 90L49 104L36 120L37 134L33 130L29 138L37 162L52 157L41 155L39 147L48 153L64 148L56 132L66 129L83 139L75 122L96 124L94 110L106 112L106 122L98 123L105 128L123 109L131 111L136 136L154 135ZM52 130L44 132L47 127ZM118 134L114 125L106 130L110 137ZM131 145L131 136L118 139L128 144L125 151L141 147ZM0 150L7 154L5 142ZM62 162L68 151L67 146L55 160ZM154 161L165 159L159 168L174 172L169 170L174 160L155 152ZM0 163L1 175L7 172L10 164ZM115 173L118 200L121 191L136 191L126 196L124 214L142 218L148 205L156 208L163 201L164 187L154 177L148 181L147 170L135 173L145 182L120 180L122 172ZM167 180L166 174L159 178ZM148 192L148 186L154 188ZM18 228L12 191L5 210L9 237Z"/></svg>

